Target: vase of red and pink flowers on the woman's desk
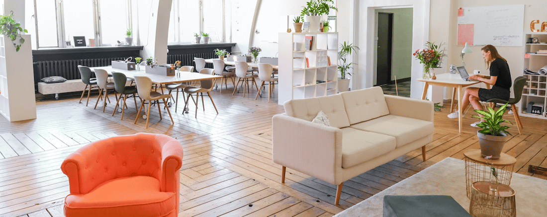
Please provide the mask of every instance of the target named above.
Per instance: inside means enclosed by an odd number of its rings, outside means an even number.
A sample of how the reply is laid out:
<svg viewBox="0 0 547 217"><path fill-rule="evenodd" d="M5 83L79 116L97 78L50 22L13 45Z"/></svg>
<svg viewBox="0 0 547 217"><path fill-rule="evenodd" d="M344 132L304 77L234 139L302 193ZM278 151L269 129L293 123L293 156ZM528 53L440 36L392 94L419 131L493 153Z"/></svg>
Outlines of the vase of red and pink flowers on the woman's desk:
<svg viewBox="0 0 547 217"><path fill-rule="evenodd" d="M417 60L420 60L420 63L423 64L424 79L431 79L434 74L430 73L430 70L432 68L439 68L441 62L443 61L443 57L446 56L446 48L441 48L444 45L445 43L443 42L439 43L439 45L435 45L435 43L432 42L427 42L425 44L426 49L418 49L414 52L414 54L412 54L416 56Z"/></svg>

